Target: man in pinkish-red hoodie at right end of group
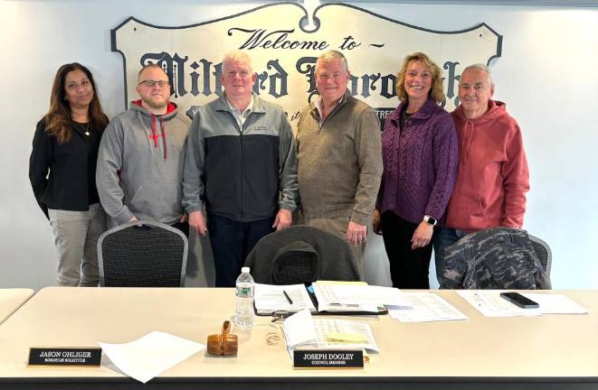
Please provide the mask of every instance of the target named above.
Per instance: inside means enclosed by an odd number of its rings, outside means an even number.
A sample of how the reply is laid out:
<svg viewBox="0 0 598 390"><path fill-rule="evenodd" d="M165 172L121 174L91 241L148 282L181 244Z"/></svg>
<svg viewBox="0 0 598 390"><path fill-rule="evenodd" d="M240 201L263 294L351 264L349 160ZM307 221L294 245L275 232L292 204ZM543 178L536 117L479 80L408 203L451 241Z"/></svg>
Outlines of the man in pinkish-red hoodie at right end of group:
<svg viewBox="0 0 598 390"><path fill-rule="evenodd" d="M482 64L461 73L460 106L451 116L459 138L459 173L446 221L434 241L436 275L443 251L468 233L496 227L521 228L529 172L521 131L506 105L492 100L494 83Z"/></svg>

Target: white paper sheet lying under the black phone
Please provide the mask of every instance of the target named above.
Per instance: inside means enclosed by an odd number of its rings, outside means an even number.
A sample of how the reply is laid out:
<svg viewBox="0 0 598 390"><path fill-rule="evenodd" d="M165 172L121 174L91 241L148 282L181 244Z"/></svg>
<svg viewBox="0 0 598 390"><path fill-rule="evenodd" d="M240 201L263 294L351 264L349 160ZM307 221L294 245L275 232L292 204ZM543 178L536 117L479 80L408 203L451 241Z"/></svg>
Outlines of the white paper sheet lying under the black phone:
<svg viewBox="0 0 598 390"><path fill-rule="evenodd" d="M500 297L504 290L459 290L457 293L486 317L538 316L539 309L522 309Z"/></svg>

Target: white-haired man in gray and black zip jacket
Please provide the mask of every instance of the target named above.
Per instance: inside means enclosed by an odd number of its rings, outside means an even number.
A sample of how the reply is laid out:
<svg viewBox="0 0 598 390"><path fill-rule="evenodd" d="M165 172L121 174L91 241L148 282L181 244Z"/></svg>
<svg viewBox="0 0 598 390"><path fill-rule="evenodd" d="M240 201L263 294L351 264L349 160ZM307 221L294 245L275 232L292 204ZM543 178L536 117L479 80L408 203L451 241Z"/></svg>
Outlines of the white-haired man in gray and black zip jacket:
<svg viewBox="0 0 598 390"><path fill-rule="evenodd" d="M189 130L183 205L192 230L210 231L216 287L234 286L260 238L290 226L298 197L289 121L252 93L256 78L247 54L226 54L224 93L198 109Z"/></svg>

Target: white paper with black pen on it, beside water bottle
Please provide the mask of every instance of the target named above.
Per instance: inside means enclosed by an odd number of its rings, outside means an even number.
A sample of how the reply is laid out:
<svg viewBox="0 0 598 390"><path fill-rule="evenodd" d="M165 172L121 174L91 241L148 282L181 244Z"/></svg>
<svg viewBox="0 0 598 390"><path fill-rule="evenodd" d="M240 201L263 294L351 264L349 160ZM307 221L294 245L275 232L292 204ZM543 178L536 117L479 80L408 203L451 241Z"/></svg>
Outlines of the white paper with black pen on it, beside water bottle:
<svg viewBox="0 0 598 390"><path fill-rule="evenodd" d="M289 294L292 303L287 300L284 292ZM255 310L258 313L271 314L272 311L301 311L304 309L316 311L305 284L255 284Z"/></svg>

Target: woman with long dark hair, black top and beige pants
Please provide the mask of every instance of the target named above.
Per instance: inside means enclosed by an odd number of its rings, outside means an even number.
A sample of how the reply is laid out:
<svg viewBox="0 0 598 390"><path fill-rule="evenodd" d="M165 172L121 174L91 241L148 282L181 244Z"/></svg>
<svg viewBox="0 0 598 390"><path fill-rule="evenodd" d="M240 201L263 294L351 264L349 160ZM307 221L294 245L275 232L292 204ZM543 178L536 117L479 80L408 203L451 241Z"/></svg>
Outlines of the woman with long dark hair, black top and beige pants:
<svg viewBox="0 0 598 390"><path fill-rule="evenodd" d="M106 125L90 70L77 62L62 65L29 159L33 194L52 225L60 285L98 285L97 242L106 215L95 175Z"/></svg>

